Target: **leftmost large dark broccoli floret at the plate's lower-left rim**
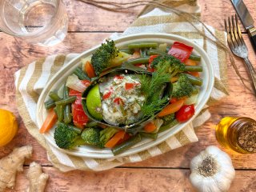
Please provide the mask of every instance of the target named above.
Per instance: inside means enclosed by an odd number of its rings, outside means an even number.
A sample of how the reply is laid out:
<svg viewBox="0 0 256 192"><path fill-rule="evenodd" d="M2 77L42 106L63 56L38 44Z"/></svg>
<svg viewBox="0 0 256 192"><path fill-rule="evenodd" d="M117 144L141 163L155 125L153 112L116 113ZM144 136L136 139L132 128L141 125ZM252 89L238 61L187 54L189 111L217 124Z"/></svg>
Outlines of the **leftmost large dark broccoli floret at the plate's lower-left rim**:
<svg viewBox="0 0 256 192"><path fill-rule="evenodd" d="M59 122L54 131L54 140L59 148L72 149L85 143L82 141L80 134L81 130L77 127Z"/></svg>

